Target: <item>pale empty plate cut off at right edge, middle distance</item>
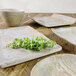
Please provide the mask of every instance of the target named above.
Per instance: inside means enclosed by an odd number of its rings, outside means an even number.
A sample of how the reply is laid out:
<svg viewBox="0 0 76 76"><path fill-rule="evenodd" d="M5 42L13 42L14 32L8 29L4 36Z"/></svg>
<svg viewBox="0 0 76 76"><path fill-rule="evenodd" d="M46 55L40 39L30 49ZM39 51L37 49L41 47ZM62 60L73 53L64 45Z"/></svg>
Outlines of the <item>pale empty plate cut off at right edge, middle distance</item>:
<svg viewBox="0 0 76 76"><path fill-rule="evenodd" d="M52 29L59 37L76 46L76 27Z"/></svg>

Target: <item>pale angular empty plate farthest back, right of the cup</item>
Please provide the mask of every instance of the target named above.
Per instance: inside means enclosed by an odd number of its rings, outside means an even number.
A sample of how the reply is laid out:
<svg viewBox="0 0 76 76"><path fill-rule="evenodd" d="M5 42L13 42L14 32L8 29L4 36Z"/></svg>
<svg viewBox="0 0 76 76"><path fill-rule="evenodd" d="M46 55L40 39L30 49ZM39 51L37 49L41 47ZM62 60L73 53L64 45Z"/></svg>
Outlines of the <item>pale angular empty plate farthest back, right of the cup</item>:
<svg viewBox="0 0 76 76"><path fill-rule="evenodd" d="M32 19L37 23L46 27L71 25L76 22L75 18L61 14L53 14L52 16L44 16L44 17L33 17Z"/></svg>

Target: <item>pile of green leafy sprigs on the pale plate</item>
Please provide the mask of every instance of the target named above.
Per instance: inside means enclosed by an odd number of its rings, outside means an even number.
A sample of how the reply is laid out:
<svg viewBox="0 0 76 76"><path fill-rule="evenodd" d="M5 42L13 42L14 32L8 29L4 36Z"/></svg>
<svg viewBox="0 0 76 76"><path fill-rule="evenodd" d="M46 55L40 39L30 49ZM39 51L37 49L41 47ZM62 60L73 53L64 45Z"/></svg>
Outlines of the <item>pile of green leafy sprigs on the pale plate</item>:
<svg viewBox="0 0 76 76"><path fill-rule="evenodd" d="M32 38L24 38L18 39L15 38L12 43L8 44L7 47L12 47L13 49L16 48L25 48L27 50L36 50L42 51L43 48L51 47L53 48L56 45L56 42L53 40L47 40L43 37L36 37L35 39Z"/></svg>

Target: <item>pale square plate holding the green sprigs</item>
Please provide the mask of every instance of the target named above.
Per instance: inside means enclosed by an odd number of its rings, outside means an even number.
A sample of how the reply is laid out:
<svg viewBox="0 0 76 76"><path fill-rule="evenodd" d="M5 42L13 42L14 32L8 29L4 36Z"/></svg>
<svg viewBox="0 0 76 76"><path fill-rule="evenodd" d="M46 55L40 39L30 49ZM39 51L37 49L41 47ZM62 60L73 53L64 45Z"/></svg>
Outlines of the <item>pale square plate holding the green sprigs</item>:
<svg viewBox="0 0 76 76"><path fill-rule="evenodd" d="M35 58L49 55L54 52L61 51L62 48L58 44L55 45L53 48L43 49L42 52L30 51L26 49L6 48L6 45L11 43L14 38L24 38L24 37L33 38L37 36L42 36L48 39L43 34L39 33L30 26L1 29L0 30L0 67L2 68L9 67Z"/></svg>

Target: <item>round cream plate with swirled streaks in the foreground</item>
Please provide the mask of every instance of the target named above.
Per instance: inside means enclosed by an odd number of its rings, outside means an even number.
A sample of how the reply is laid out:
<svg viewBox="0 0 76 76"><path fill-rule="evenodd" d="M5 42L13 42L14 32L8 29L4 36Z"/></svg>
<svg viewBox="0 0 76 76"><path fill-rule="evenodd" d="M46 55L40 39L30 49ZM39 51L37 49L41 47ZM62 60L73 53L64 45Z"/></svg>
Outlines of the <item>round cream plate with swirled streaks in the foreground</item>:
<svg viewBox="0 0 76 76"><path fill-rule="evenodd" d="M38 62L31 76L76 76L76 55L60 54Z"/></svg>

